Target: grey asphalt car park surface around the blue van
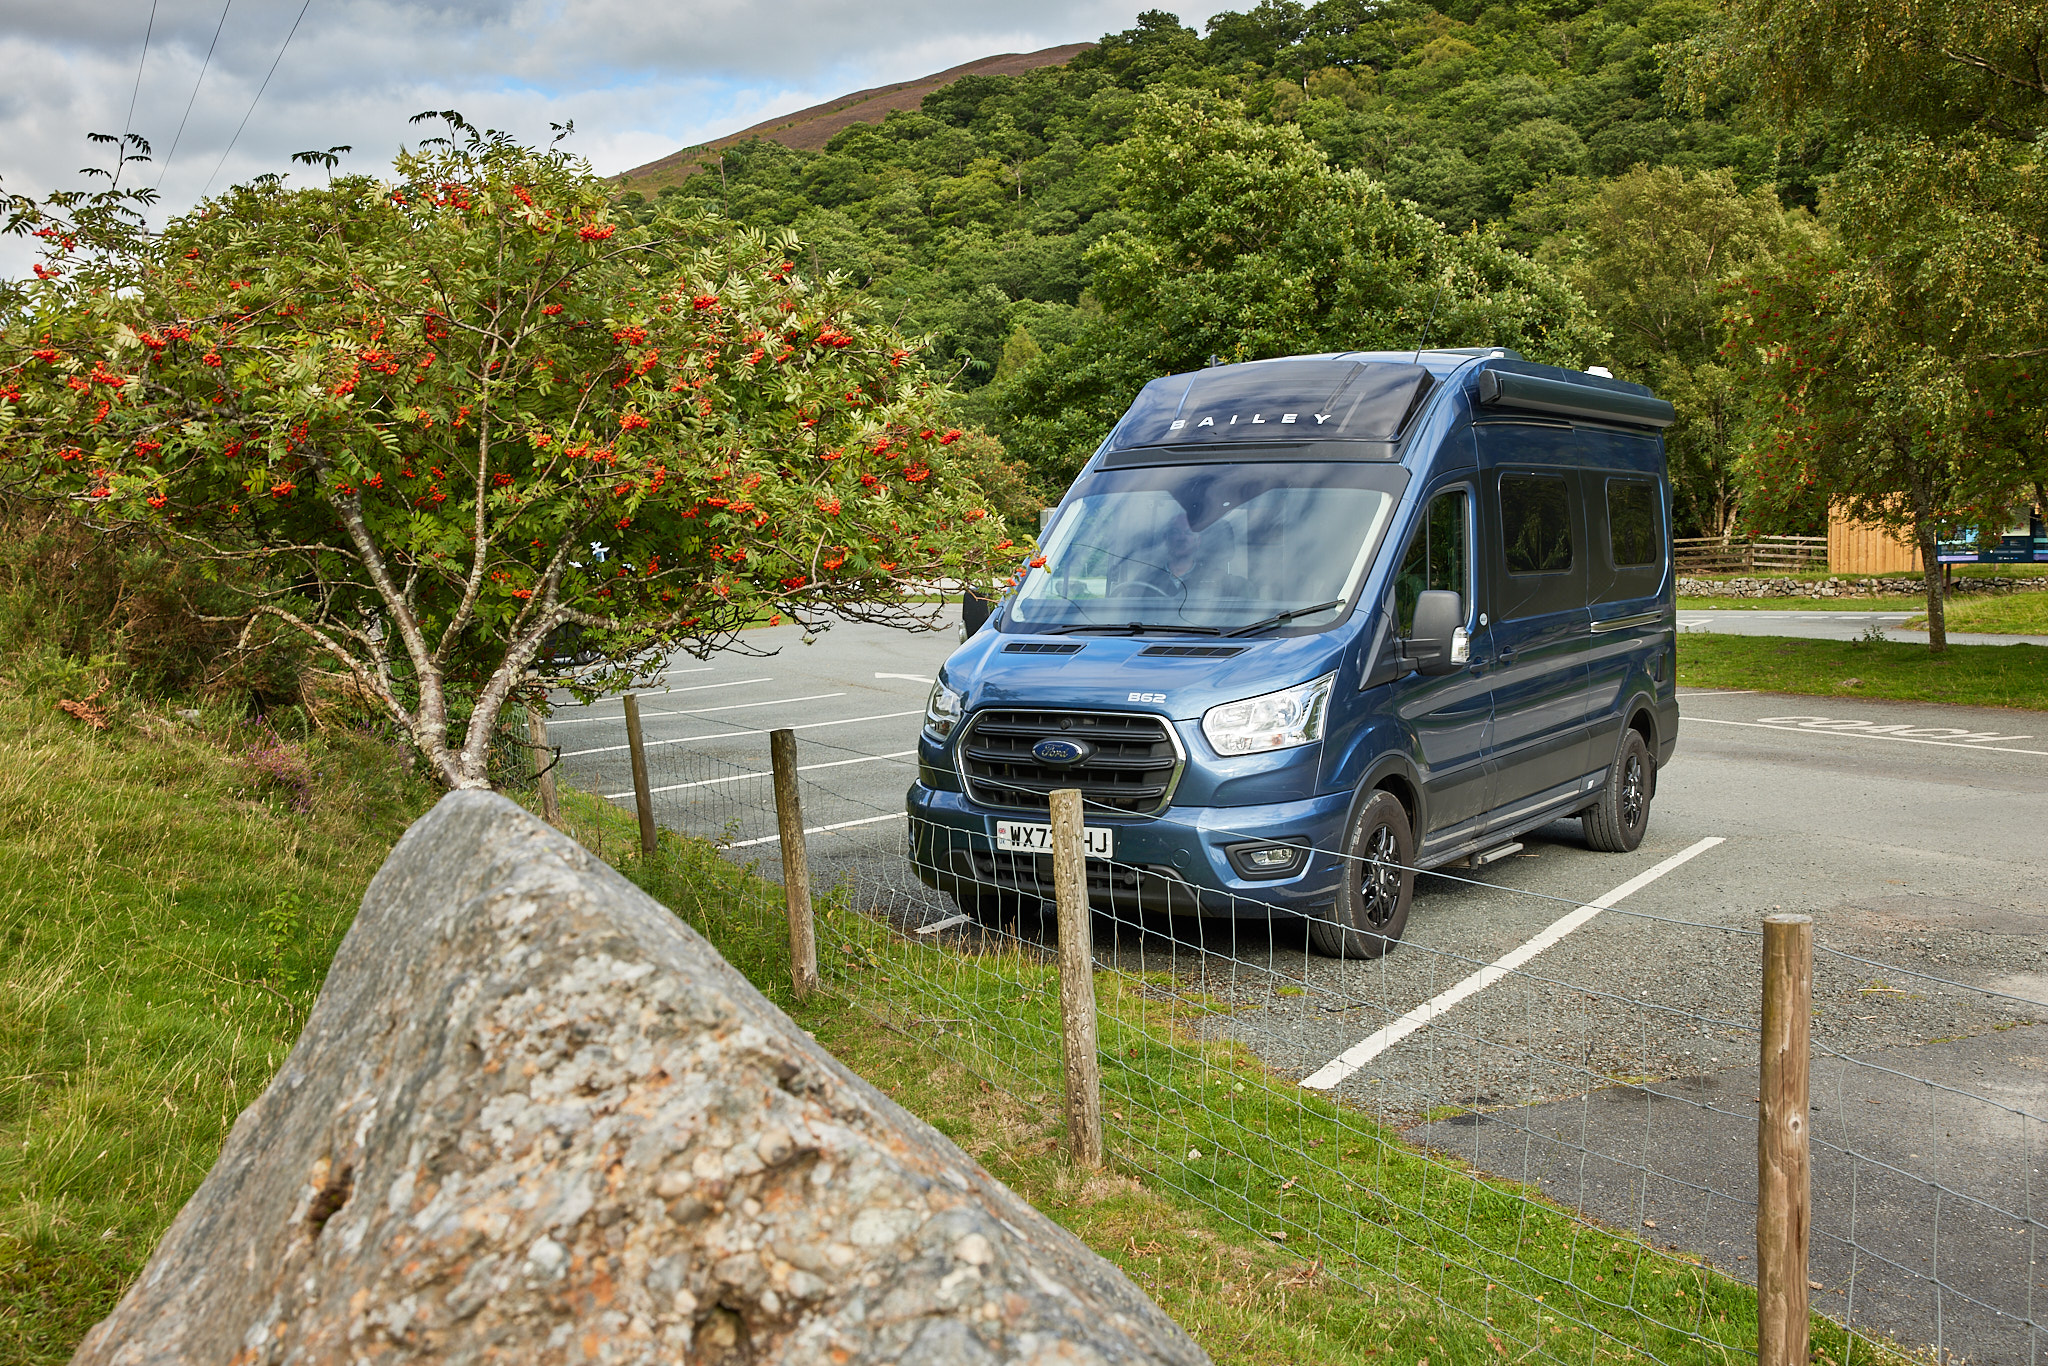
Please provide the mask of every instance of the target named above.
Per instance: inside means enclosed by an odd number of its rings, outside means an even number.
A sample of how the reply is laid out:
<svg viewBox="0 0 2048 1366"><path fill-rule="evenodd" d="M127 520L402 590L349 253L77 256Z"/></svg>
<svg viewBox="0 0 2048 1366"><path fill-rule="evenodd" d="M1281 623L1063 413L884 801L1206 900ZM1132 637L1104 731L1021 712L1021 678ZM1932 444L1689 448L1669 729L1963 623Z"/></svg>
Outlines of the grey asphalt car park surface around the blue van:
<svg viewBox="0 0 2048 1366"><path fill-rule="evenodd" d="M643 694L662 823L774 874L766 731L791 725L817 881L858 879L903 922L950 915L909 877L901 811L952 631L745 639L780 653L678 659L670 692ZM1382 961L1319 958L1298 928L1255 922L1098 922L1098 952L1198 987L1219 1004L1210 1032L1276 1073L1329 1081L1350 1057L1335 1096L1741 1274L1757 922L1810 913L1817 1307L1978 1362L2034 1360L2048 1333L2015 1323L2030 1278L2048 1305L2048 713L1751 692L1681 694L1681 711L1636 852L1591 852L1567 821L1501 862L1425 874ZM631 805L618 717L616 700L563 707L553 737L569 780ZM1587 903L1608 909L1427 1010Z"/></svg>

